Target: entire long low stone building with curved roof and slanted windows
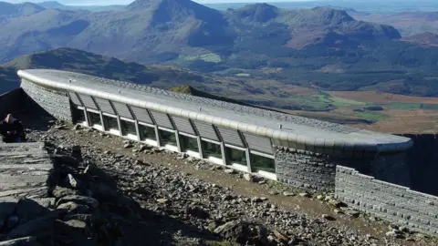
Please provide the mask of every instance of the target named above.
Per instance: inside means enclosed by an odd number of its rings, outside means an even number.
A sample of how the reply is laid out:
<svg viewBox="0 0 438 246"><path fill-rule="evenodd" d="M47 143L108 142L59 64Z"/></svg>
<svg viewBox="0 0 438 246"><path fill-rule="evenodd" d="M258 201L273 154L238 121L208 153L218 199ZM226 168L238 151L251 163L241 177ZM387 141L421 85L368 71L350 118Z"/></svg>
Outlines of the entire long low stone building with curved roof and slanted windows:
<svg viewBox="0 0 438 246"><path fill-rule="evenodd" d="M78 73L18 72L56 118L288 185L334 190L339 165L409 186L410 138Z"/></svg>

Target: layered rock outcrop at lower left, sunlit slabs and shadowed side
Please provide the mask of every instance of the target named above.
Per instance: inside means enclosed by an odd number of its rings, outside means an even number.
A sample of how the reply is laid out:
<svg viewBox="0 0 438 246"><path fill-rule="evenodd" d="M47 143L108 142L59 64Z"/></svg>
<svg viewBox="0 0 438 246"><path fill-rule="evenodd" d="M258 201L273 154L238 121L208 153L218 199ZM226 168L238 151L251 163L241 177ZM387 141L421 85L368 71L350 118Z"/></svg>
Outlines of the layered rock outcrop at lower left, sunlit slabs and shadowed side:
<svg viewBox="0 0 438 246"><path fill-rule="evenodd" d="M0 144L0 245L127 245L140 206L72 150Z"/></svg>

